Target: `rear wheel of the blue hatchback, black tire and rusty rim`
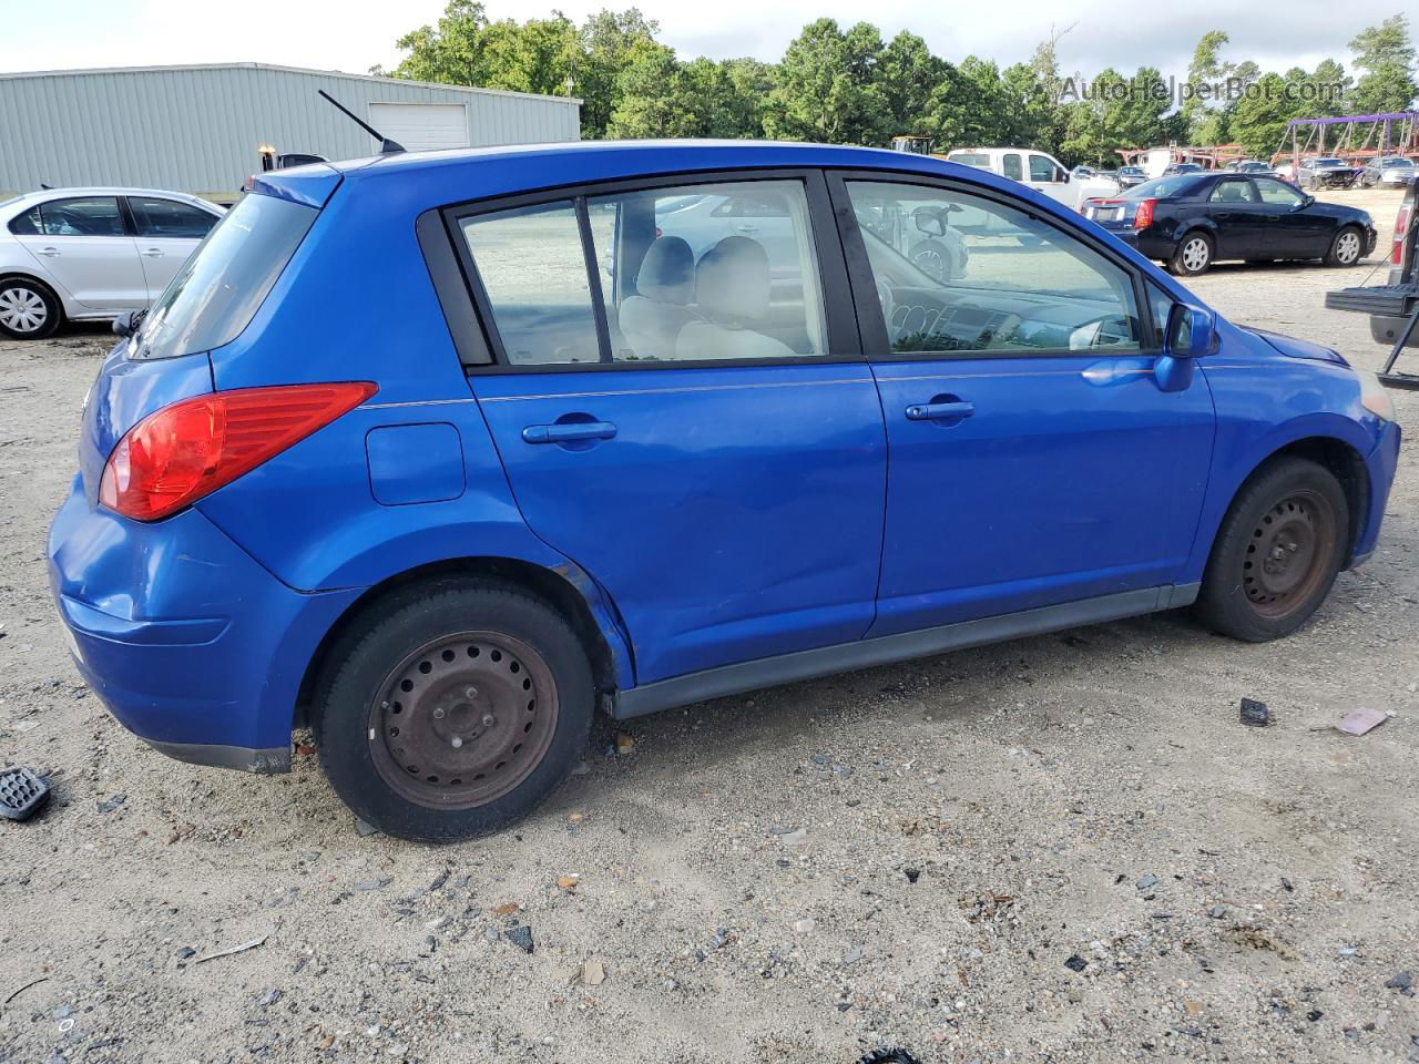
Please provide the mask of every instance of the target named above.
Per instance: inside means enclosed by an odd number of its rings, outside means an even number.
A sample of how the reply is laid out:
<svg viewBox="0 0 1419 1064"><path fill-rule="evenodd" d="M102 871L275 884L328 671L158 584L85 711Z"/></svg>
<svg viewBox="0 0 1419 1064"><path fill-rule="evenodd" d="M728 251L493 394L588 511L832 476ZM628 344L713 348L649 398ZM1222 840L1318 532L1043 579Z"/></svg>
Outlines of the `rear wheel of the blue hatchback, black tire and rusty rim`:
<svg viewBox="0 0 1419 1064"><path fill-rule="evenodd" d="M586 651L556 610L508 584L450 577L353 623L332 650L312 729L358 817L453 843L542 804L585 752L595 702Z"/></svg>

